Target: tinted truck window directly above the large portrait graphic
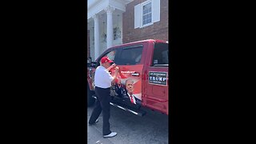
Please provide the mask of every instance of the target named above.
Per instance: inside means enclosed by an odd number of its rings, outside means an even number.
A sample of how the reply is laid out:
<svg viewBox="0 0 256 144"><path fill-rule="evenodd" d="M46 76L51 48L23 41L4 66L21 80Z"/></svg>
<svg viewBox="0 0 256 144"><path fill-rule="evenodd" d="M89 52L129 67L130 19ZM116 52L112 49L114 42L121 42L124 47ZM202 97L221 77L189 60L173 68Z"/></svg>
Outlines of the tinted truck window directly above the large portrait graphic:
<svg viewBox="0 0 256 144"><path fill-rule="evenodd" d="M115 62L118 65L137 65L141 62L143 46L124 47Z"/></svg>

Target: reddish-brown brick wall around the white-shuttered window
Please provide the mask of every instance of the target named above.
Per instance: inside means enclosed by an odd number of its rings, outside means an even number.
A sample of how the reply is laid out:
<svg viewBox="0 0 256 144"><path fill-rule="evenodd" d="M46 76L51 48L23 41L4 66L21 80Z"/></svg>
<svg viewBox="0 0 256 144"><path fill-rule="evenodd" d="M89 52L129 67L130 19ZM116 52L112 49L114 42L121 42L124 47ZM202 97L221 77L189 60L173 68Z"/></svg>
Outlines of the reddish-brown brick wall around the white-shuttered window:
<svg viewBox="0 0 256 144"><path fill-rule="evenodd" d="M134 0L126 6L122 14L122 42L135 42L144 39L168 40L168 0L160 0L160 21L153 25L134 29L134 6L146 0Z"/></svg>

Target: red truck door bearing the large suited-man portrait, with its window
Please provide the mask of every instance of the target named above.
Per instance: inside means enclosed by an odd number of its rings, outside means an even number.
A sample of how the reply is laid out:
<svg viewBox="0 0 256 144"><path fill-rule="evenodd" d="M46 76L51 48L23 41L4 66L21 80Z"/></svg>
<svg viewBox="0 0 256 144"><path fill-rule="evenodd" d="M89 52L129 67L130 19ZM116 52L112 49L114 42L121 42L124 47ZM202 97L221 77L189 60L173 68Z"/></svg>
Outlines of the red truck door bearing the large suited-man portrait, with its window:
<svg viewBox="0 0 256 144"><path fill-rule="evenodd" d="M140 106L142 102L143 45L124 46L115 63L119 67L116 92L126 102Z"/></svg>

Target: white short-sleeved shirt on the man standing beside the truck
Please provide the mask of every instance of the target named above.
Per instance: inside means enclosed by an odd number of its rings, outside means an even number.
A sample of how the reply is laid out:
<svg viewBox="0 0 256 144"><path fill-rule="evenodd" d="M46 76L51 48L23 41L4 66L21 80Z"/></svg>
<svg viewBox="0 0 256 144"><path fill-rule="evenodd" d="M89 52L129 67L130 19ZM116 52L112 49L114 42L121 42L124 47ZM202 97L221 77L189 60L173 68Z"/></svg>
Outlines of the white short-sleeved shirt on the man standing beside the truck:
<svg viewBox="0 0 256 144"><path fill-rule="evenodd" d="M106 70L104 66L98 66L95 70L94 75L94 84L100 88L109 88L111 86L111 82L113 81L113 77Z"/></svg>

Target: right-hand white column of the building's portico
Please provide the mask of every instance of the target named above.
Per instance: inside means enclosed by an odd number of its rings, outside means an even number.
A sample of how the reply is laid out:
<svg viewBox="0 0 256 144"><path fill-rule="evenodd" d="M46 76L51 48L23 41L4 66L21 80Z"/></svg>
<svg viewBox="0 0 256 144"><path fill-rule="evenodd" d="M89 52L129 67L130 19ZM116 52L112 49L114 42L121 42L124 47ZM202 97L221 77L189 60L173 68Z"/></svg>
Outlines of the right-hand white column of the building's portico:
<svg viewBox="0 0 256 144"><path fill-rule="evenodd" d="M106 48L113 46L113 18L114 7L107 6L106 11Z"/></svg>

